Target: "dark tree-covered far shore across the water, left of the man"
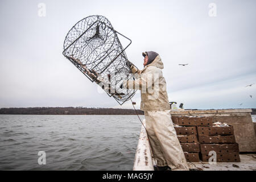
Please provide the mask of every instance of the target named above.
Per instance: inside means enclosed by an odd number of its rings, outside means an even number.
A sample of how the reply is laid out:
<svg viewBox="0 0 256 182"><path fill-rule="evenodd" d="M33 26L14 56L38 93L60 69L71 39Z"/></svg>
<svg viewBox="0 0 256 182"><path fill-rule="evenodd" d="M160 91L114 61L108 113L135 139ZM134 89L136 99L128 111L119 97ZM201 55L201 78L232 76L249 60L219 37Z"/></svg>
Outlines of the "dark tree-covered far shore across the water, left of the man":
<svg viewBox="0 0 256 182"><path fill-rule="evenodd" d="M144 114L137 110L138 114ZM0 114L67 114L67 115L132 115L134 109L87 108L87 107L11 107L1 108Z"/></svg>

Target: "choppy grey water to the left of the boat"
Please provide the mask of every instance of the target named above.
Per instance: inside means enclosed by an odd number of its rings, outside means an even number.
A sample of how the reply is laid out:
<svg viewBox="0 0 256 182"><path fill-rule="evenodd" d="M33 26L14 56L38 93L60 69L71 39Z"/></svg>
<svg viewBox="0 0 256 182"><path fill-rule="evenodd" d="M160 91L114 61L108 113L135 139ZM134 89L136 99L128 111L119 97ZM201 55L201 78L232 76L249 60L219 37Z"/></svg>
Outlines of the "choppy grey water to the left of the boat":
<svg viewBox="0 0 256 182"><path fill-rule="evenodd" d="M140 131L137 115L0 115L0 170L131 170Z"/></svg>

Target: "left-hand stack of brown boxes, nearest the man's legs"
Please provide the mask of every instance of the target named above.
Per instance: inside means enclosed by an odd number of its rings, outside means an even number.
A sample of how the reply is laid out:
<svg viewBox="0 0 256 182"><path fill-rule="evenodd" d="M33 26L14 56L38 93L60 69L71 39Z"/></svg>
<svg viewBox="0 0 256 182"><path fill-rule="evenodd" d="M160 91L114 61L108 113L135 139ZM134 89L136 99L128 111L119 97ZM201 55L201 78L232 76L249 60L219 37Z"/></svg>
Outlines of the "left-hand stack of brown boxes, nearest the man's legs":
<svg viewBox="0 0 256 182"><path fill-rule="evenodd" d="M200 122L199 122L200 121ZM188 162L199 162L200 143L197 139L196 126L208 126L205 118L199 117L172 117L177 138ZM207 124L206 124L207 123Z"/></svg>

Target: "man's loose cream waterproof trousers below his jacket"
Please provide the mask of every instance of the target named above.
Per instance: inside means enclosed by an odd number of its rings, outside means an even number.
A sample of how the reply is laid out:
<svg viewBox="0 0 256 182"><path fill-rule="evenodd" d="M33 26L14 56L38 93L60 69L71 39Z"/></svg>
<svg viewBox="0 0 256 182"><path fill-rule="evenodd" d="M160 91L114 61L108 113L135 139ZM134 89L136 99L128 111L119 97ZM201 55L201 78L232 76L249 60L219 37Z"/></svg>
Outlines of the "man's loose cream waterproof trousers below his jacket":
<svg viewBox="0 0 256 182"><path fill-rule="evenodd" d="M144 111L151 150L158 166L189 170L171 120L170 110Z"/></svg>

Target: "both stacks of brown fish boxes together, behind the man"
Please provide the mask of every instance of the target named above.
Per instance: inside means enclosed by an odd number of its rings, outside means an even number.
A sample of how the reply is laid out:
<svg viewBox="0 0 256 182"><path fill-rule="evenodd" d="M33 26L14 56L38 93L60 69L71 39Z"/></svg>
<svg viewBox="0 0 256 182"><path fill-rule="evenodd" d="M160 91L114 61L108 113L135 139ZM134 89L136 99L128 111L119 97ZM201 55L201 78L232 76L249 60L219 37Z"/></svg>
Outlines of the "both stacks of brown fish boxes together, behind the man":
<svg viewBox="0 0 256 182"><path fill-rule="evenodd" d="M172 122L188 162L208 162L210 151L217 162L240 162L233 126L203 116L172 116Z"/></svg>

